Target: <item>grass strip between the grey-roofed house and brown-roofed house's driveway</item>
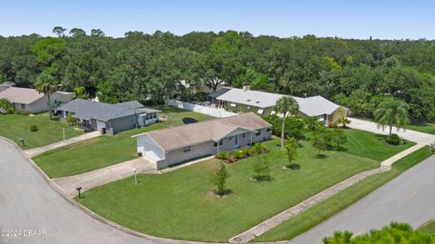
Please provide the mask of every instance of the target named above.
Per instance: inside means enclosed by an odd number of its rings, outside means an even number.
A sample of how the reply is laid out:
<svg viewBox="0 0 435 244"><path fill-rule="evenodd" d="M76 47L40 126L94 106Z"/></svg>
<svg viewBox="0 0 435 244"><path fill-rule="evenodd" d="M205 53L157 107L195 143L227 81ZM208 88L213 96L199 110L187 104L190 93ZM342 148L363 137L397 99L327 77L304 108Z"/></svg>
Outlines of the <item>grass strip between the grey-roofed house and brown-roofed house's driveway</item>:
<svg viewBox="0 0 435 244"><path fill-rule="evenodd" d="M162 106L158 109L163 111L162 115L168 116L167 122L150 124L140 129L118 133L115 136L104 135L85 142L78 142L44 152L34 157L33 160L52 179L80 174L138 158L136 138L131 138L132 135L180 125L183 124L182 120L185 118L197 121L213 119L205 114L173 107Z"/></svg>

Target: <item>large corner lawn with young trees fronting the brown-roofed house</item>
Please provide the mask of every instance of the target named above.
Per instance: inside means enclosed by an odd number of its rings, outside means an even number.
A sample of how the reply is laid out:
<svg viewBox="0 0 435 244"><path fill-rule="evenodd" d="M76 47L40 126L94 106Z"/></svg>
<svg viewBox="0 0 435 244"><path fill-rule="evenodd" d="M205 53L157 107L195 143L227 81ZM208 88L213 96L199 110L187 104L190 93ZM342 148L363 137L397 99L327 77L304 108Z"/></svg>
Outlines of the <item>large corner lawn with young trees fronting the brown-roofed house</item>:
<svg viewBox="0 0 435 244"><path fill-rule="evenodd" d="M311 142L298 149L298 171L284 171L285 155L279 140L264 142L270 163L270 182L250 181L256 158L227 166L227 187L222 199L210 194L209 175L218 161L203 161L162 175L140 175L87 190L75 199L87 208L130 229L170 239L227 241L236 234L288 209L302 200L379 161L343 151L327 151L319 159Z"/></svg>

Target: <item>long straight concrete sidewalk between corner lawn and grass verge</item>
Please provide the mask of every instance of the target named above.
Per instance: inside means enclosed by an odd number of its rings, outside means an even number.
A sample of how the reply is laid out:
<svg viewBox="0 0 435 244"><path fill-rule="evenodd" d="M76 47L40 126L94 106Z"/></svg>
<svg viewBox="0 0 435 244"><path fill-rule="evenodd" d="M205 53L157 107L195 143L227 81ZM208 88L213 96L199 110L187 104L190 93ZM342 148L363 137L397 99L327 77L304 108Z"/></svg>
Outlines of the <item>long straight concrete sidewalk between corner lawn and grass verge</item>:
<svg viewBox="0 0 435 244"><path fill-rule="evenodd" d="M313 197L311 197L307 200L304 200L303 202L297 204L295 207L290 208L288 210L285 210L285 211L275 215L274 217L256 225L255 227L248 229L247 231L245 231L241 234L238 234L237 236L229 239L229 242L230 243L247 243L250 240L255 239L257 236L265 233L267 230L275 228L276 226L282 224L286 220L289 220L290 218L295 217L297 214L303 212L304 210L308 210L308 209L314 207L315 204L317 204L321 201L329 199L330 197L332 197L336 193L352 186L353 184L355 184L359 181L362 181L371 175L375 175L375 174L382 173L385 171L390 171L391 164L393 162L400 160L401 158L405 157L406 155L409 155L413 151L417 151L424 146L425 146L424 144L418 143L418 144L412 146L411 148L409 148L405 151L401 151L398 154L392 156L391 158L389 158L385 161L382 161L380 168L373 169L370 171L362 171L361 173L355 174L351 178L348 178L344 181L341 181L341 182L333 185L332 187L314 195Z"/></svg>

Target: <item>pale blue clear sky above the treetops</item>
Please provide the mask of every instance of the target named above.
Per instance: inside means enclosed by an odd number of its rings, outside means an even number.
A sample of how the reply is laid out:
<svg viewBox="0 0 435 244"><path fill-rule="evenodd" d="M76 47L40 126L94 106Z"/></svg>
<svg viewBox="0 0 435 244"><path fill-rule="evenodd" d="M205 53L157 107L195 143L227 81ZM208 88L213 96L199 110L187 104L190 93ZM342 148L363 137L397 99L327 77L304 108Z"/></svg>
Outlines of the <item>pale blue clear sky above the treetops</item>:
<svg viewBox="0 0 435 244"><path fill-rule="evenodd" d="M53 35L53 26L173 34L247 31L279 37L435 39L435 1L0 0L0 35ZM68 32L67 31L67 32Z"/></svg>

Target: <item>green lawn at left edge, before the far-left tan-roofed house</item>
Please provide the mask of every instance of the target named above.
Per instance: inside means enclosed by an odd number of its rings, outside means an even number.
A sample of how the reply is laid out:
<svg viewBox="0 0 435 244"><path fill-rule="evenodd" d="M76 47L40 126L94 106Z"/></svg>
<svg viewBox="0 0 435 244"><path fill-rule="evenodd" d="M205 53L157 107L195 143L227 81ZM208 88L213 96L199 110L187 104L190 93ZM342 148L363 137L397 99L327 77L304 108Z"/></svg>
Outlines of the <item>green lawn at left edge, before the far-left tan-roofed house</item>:
<svg viewBox="0 0 435 244"><path fill-rule="evenodd" d="M56 118L57 119L57 118ZM34 124L39 130L30 132L30 126ZM40 147L43 145L63 140L62 128L65 128L65 138L69 139L82 134L68 126L66 123L49 121L48 113L39 113L35 116L23 114L1 114L0 115L0 136L11 139L23 149ZM24 138L25 145L22 146L18 139Z"/></svg>

